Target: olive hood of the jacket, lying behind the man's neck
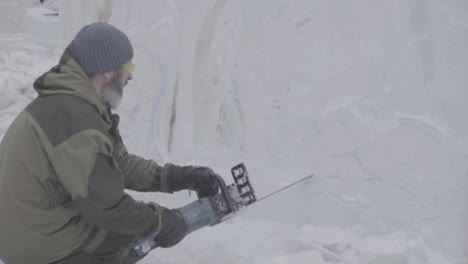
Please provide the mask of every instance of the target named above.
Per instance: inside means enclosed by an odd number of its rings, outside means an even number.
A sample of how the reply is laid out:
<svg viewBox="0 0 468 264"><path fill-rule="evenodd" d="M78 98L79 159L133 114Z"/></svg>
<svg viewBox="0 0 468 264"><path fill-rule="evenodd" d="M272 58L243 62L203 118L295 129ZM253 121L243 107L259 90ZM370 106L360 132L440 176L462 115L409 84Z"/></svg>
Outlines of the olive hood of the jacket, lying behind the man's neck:
<svg viewBox="0 0 468 264"><path fill-rule="evenodd" d="M107 107L75 59L73 42L65 49L59 63L37 78L33 87L39 96L68 94L79 97L96 108L107 123L111 122Z"/></svg>

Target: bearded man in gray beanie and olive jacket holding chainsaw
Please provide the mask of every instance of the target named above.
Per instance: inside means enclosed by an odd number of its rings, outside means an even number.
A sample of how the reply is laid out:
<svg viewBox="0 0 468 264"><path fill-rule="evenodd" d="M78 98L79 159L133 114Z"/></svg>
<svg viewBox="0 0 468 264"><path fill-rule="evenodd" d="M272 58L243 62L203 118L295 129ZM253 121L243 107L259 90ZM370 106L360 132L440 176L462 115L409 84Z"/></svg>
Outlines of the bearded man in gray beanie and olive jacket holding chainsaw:
<svg viewBox="0 0 468 264"><path fill-rule="evenodd" d="M178 210L133 200L142 192L215 195L206 167L159 166L129 154L118 131L133 48L117 28L81 29L34 82L38 97L0 145L0 259L6 264L135 263L133 243L171 247L187 231Z"/></svg>

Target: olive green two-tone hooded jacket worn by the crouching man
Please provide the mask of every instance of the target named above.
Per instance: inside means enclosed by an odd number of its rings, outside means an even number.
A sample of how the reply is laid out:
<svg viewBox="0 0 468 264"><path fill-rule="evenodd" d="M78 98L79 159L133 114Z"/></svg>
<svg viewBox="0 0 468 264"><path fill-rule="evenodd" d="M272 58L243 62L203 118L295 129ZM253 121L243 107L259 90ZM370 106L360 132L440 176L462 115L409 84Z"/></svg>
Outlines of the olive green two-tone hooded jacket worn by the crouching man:
<svg viewBox="0 0 468 264"><path fill-rule="evenodd" d="M99 100L72 45L34 88L39 96L0 145L0 259L45 264L92 252L107 232L156 233L154 207L124 188L167 191L170 165L126 151L118 116Z"/></svg>

